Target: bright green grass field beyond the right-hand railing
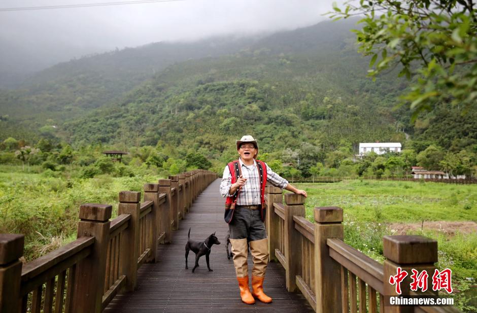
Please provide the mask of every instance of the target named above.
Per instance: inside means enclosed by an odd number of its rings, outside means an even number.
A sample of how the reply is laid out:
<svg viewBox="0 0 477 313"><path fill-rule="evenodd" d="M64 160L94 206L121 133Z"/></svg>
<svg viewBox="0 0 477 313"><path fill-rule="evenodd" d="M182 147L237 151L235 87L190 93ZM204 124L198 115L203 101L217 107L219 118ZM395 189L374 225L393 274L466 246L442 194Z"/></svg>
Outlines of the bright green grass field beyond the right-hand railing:
<svg viewBox="0 0 477 313"><path fill-rule="evenodd" d="M397 228L407 224L423 225L407 233L437 240L437 267L452 269L458 307L477 311L477 185L357 180L296 186L309 195L305 206L310 221L316 206L342 207L345 242L380 262L384 260L384 235L397 234ZM439 224L430 221L456 223L427 228ZM472 223L459 227L464 222ZM448 224L454 229L446 229Z"/></svg>

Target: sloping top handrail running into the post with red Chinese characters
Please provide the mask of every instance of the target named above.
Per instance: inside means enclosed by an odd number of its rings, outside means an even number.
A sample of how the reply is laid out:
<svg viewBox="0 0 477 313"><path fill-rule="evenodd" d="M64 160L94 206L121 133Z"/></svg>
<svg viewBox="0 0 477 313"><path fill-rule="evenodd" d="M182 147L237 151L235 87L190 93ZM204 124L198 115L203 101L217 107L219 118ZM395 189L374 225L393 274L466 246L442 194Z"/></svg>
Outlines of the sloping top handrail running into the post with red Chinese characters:
<svg viewBox="0 0 477 313"><path fill-rule="evenodd" d="M374 261L340 239L328 238L326 239L326 244L330 248L329 254L331 258L353 272L380 294L384 294L383 264Z"/></svg>

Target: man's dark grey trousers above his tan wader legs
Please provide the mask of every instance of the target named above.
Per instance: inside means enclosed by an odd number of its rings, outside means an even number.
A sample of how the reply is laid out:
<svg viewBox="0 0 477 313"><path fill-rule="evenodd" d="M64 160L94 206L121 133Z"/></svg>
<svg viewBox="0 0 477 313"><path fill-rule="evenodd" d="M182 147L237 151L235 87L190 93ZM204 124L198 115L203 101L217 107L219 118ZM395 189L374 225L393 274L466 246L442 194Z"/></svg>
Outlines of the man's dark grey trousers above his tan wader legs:
<svg viewBox="0 0 477 313"><path fill-rule="evenodd" d="M240 205L235 206L233 219L228 224L230 239L244 239L248 241L266 238L266 229L260 218L260 209L249 210Z"/></svg>

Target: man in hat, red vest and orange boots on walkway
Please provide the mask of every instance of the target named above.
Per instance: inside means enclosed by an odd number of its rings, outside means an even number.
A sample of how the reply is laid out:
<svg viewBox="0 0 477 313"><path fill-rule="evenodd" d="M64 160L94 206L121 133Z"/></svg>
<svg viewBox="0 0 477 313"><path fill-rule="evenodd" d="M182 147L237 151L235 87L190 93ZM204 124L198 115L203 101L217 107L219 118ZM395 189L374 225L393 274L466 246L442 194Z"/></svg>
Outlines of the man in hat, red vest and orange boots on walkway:
<svg viewBox="0 0 477 313"><path fill-rule="evenodd" d="M305 197L306 192L296 189L264 162L256 160L258 143L252 136L245 135L241 140L237 140L236 144L240 158L225 166L220 184L220 193L226 197L224 219L229 224L233 264L242 301L253 304L256 297L269 303L272 299L263 292L263 279L268 263L268 242L263 224L265 185L268 181L276 187ZM252 293L249 289L248 243L254 264Z"/></svg>

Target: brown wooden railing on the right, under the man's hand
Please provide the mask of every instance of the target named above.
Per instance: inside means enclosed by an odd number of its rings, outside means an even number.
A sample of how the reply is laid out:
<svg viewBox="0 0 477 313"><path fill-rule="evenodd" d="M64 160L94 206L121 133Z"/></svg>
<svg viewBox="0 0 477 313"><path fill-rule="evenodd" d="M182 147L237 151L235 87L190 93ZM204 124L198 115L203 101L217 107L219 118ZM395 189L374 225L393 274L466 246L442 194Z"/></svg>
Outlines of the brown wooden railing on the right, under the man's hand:
<svg viewBox="0 0 477 313"><path fill-rule="evenodd" d="M283 198L285 203L283 203ZM270 260L286 270L288 291L300 291L316 312L459 312L452 306L389 306L397 295L389 277L398 267L410 273L401 283L401 295L410 290L411 269L426 270L432 286L437 241L423 236L384 236L381 264L343 242L343 210L316 207L312 223L305 219L304 197L268 186L267 235ZM432 288L430 289L432 290ZM437 295L437 292L426 295Z"/></svg>

